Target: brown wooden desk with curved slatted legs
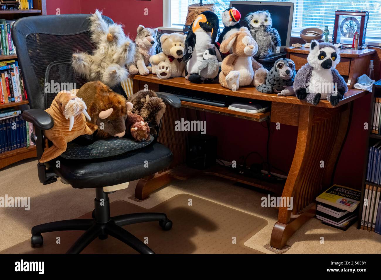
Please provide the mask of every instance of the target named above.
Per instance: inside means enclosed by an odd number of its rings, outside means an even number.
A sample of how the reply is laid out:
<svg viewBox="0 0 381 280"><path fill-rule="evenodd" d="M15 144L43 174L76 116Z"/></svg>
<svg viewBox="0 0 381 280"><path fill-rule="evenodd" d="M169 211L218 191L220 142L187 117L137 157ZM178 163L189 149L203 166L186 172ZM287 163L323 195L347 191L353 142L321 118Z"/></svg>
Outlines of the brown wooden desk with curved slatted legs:
<svg viewBox="0 0 381 280"><path fill-rule="evenodd" d="M293 197L293 210L287 210L287 206L280 207L278 221L272 230L271 246L279 249L286 245L288 238L304 222L315 215L315 197L320 194L322 188L326 189L333 183L336 162L349 127L351 101L367 94L366 91L352 89L344 95L344 99L339 102L339 106L332 107L326 100L320 101L318 106L312 106L296 97L264 94L250 86L231 91L223 88L218 83L194 84L181 77L168 80L160 80L153 75L135 75L133 77L134 92L147 88L147 86L150 90L158 91L159 85L267 100L271 101L271 111L262 113L263 116L252 116L251 114L240 115L226 108L205 107L192 102L181 102L183 107L178 110L167 106L159 142L172 150L174 162L171 167L174 169L163 172L161 177L155 175L151 178L142 179L138 183L137 192L135 193L136 197L140 199L147 197L150 192L157 189L157 186L160 187L160 183L166 184L169 182L171 176L177 179L187 178L186 175L181 174L180 168L177 170L175 168L185 162L186 133L174 131L174 121L181 118L197 119L195 110L207 110L216 114L243 117L254 121L259 121L261 117L265 118L270 115L271 122L298 126L295 154L284 187L279 187L279 184L270 184L240 177L237 174L230 174L226 170L206 171L234 181L262 187L273 191L275 194L282 193L283 197ZM189 110L189 108L195 110ZM321 161L324 161L324 168L320 168ZM150 183L150 179L156 179L157 182Z"/></svg>

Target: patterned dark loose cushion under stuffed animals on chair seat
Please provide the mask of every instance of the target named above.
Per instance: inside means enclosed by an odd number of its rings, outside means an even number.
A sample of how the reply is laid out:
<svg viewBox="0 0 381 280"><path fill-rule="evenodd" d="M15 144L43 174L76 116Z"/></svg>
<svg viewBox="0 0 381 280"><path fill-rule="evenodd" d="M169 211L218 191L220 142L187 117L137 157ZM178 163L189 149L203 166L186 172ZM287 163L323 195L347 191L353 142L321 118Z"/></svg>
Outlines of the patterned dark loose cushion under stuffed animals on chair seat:
<svg viewBox="0 0 381 280"><path fill-rule="evenodd" d="M61 157L68 160L112 157L140 149L151 144L152 141L154 141L152 135L148 141L143 142L136 142L129 138L109 138L97 140L91 144L79 145L77 142L72 141L67 143L66 151L61 154Z"/></svg>

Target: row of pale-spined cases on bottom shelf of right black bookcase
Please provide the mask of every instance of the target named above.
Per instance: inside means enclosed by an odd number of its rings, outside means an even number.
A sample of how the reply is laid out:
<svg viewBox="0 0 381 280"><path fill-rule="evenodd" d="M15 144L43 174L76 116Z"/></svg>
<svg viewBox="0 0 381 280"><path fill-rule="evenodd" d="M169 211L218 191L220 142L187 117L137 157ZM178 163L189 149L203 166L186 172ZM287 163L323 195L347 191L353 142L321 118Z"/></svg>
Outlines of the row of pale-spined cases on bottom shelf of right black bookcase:
<svg viewBox="0 0 381 280"><path fill-rule="evenodd" d="M361 228L381 234L381 187L365 185Z"/></svg>

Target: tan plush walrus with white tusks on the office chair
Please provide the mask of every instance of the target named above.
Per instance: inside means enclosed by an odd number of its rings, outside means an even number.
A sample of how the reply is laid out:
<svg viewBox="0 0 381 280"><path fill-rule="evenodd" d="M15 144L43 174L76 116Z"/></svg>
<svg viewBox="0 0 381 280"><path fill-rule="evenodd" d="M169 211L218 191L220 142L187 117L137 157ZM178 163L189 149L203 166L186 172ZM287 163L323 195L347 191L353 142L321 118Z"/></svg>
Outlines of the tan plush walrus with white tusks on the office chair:
<svg viewBox="0 0 381 280"><path fill-rule="evenodd" d="M53 99L51 106L45 110L54 120L50 130L45 130L45 150L40 162L48 162L66 151L67 142L83 134L93 134L96 125L86 125L86 118L91 120L86 112L86 104L70 91L61 91ZM48 146L48 139L53 146Z"/></svg>

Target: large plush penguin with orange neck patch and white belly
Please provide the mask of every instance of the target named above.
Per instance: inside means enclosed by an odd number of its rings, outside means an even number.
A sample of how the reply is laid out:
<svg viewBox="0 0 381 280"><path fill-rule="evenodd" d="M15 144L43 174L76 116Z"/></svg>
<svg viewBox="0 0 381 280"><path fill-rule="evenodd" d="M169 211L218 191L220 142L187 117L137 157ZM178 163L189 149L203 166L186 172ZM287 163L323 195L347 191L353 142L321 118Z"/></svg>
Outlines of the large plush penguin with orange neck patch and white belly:
<svg viewBox="0 0 381 280"><path fill-rule="evenodd" d="M218 29L218 16L211 11L202 12L192 22L185 39L183 56L186 62L185 78L190 82L204 81L204 78L199 75L199 66L204 61L205 51L215 46ZM221 58L221 55L219 57Z"/></svg>

